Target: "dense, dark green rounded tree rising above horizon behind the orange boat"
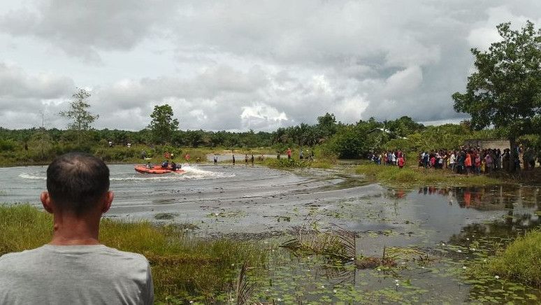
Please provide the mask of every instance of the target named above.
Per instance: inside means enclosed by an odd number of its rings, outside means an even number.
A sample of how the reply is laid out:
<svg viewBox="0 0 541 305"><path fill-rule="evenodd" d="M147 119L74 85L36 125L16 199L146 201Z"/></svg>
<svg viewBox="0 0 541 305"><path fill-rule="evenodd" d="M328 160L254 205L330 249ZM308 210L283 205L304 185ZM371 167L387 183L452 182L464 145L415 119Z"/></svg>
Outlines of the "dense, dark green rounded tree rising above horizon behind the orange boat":
<svg viewBox="0 0 541 305"><path fill-rule="evenodd" d="M173 119L173 108L168 104L154 106L150 118L152 121L148 128L152 132L152 141L157 144L170 142L173 132L178 129L178 120Z"/></svg>

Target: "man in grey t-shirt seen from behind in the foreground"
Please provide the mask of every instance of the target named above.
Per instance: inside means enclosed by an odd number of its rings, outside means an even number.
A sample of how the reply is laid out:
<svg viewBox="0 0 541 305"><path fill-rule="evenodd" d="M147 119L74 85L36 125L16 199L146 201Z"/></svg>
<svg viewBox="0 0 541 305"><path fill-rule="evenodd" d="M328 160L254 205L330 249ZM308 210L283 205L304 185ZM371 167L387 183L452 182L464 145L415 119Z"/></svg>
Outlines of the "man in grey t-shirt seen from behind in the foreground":
<svg viewBox="0 0 541 305"><path fill-rule="evenodd" d="M109 169L84 153L57 157L47 169L50 243L0 257L0 304L152 304L143 255L99 243L99 223L113 202Z"/></svg>

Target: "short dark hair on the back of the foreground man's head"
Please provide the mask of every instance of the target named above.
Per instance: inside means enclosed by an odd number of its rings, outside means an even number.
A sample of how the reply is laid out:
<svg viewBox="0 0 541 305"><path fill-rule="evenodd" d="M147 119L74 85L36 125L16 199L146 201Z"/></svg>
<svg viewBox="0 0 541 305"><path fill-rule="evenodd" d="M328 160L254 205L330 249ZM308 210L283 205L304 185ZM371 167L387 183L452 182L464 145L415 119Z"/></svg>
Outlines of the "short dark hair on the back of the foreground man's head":
<svg viewBox="0 0 541 305"><path fill-rule="evenodd" d="M93 155L69 152L49 165L47 190L56 208L84 215L108 192L109 169Z"/></svg>

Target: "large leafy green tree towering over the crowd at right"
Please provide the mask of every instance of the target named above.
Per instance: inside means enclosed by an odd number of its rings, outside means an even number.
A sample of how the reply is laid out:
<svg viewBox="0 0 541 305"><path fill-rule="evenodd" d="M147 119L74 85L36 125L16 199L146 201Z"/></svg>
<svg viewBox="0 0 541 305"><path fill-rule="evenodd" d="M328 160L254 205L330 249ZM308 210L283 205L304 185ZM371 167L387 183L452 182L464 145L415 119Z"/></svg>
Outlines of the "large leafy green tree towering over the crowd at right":
<svg viewBox="0 0 541 305"><path fill-rule="evenodd" d="M539 130L541 122L541 29L530 21L520 31L510 25L497 26L503 40L488 51L471 50L476 71L466 92L452 98L456 111L471 115L473 129L500 129L514 148L518 136Z"/></svg>

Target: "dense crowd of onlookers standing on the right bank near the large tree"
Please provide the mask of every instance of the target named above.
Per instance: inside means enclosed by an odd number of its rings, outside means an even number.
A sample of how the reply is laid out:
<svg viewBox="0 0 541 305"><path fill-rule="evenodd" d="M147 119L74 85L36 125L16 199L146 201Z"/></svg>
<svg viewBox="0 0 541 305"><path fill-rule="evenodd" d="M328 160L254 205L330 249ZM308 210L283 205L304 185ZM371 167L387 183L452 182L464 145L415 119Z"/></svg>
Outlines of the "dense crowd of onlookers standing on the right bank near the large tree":
<svg viewBox="0 0 541 305"><path fill-rule="evenodd" d="M426 169L448 169L455 173L490 173L503 169L533 169L535 163L541 164L541 155L533 148L518 146L514 156L509 148L479 148L462 146L458 150L425 150L417 156L419 167ZM405 165L405 153L401 150L387 150L371 153L368 158L375 164L398 166ZM522 164L522 165L521 165Z"/></svg>

